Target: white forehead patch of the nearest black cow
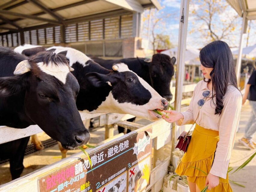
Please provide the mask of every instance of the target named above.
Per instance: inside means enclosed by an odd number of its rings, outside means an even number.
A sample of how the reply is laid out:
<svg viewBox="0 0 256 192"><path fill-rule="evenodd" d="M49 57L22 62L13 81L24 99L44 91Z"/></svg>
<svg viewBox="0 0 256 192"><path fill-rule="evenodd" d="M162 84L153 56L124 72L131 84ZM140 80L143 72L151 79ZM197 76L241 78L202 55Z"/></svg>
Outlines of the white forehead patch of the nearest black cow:
<svg viewBox="0 0 256 192"><path fill-rule="evenodd" d="M48 63L48 65L46 65L43 62L39 62L36 64L42 72L56 77L58 80L63 82L63 84L66 83L67 74L70 72L67 65L56 65L55 63Z"/></svg>

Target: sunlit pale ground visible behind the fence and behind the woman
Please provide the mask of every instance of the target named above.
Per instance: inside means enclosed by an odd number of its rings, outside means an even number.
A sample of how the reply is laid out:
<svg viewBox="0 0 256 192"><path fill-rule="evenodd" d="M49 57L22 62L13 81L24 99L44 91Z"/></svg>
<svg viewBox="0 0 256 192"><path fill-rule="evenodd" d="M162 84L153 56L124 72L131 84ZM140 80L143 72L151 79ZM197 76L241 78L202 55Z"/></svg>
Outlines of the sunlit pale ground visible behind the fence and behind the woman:
<svg viewBox="0 0 256 192"><path fill-rule="evenodd" d="M245 162L246 159L248 159L249 156L251 156L253 153L256 152L256 150L248 150L244 146L238 143L238 139L242 138L243 136L245 125L247 123L250 113L251 113L251 108L249 104L246 103L242 107L242 113L241 113L241 118L239 123L239 131L236 134L236 142L235 142L231 160L230 160L230 166L233 167L234 169L239 167L242 163ZM150 122L145 120L144 121L139 120L138 123L146 125ZM104 136L105 136L104 128L95 129L90 133L91 133L91 139L89 141L90 145L96 145L100 141L104 140ZM118 134L117 129L115 129L114 134L115 135ZM46 140L49 137L45 133L40 133L39 138L41 140ZM256 141L256 135L254 135L254 140ZM70 156L77 152L80 152L80 150L69 150L67 153L67 156ZM47 148L42 151L37 151L36 153L28 155L24 158L23 164L25 166L25 169L21 176L26 175L30 172L33 172L36 169L40 169L45 165L55 163L59 160L61 160L61 153L58 149L58 145L55 145L53 147ZM256 172L256 157L244 169L229 175L230 180L233 180L236 182L240 181L239 184L242 184L245 186L245 188L243 188L236 184L231 183L231 187L233 191L234 192L255 191L255 187L256 187L255 172ZM9 163L1 164L0 165L0 184L7 183L9 181L11 181Z"/></svg>

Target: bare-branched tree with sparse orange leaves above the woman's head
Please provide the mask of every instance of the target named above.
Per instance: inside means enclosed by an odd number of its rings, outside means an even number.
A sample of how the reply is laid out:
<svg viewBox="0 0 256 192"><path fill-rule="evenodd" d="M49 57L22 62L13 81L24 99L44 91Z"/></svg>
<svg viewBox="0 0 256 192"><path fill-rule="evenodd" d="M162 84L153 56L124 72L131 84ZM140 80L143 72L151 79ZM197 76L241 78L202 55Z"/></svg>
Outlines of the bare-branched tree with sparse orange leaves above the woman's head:
<svg viewBox="0 0 256 192"><path fill-rule="evenodd" d="M190 33L201 35L205 43L215 40L234 45L240 30L235 30L239 16L224 0L192 0L190 9L192 29Z"/></svg>

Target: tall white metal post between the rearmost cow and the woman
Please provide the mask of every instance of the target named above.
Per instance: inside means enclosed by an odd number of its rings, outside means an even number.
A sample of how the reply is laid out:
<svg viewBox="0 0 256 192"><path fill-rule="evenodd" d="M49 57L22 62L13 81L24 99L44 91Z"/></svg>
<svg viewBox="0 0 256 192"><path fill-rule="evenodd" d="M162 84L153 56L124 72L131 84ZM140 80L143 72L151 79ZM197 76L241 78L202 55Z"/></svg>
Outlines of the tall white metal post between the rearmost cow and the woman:
<svg viewBox="0 0 256 192"><path fill-rule="evenodd" d="M174 108L176 111L181 110L182 89L185 70L185 51L186 51L186 39L188 29L188 17L189 17L189 0L182 0L180 5L180 26L179 26L179 41L178 41L178 54L177 54L177 71L176 71L176 86L175 86L175 101ZM176 125L173 123L172 129L172 149L174 150L174 144L176 141ZM171 153L171 161L173 160L173 153Z"/></svg>

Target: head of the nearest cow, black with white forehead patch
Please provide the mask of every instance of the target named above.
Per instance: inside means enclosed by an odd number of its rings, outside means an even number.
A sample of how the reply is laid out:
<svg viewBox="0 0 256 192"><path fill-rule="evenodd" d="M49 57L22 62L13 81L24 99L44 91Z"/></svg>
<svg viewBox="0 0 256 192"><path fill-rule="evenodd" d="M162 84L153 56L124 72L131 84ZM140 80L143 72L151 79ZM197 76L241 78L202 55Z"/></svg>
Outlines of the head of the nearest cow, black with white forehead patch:
<svg viewBox="0 0 256 192"><path fill-rule="evenodd" d="M64 55L40 52L21 61L14 71L16 76L0 81L0 94L23 93L26 116L66 149L89 140L76 107L79 84L70 70Z"/></svg>

